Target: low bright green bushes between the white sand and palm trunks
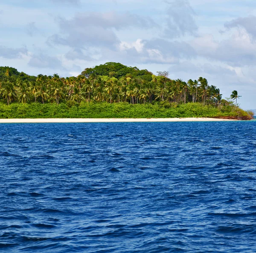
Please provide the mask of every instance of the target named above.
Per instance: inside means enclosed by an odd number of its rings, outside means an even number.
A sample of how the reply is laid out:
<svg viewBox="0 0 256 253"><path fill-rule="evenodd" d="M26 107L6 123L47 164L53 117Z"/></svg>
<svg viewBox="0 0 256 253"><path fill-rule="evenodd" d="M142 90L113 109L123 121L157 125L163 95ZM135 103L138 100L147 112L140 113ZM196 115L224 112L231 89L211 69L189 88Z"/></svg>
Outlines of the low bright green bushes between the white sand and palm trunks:
<svg viewBox="0 0 256 253"><path fill-rule="evenodd" d="M235 117L252 118L238 106L224 104L218 107L201 103L0 103L0 118L189 118L189 117Z"/></svg>

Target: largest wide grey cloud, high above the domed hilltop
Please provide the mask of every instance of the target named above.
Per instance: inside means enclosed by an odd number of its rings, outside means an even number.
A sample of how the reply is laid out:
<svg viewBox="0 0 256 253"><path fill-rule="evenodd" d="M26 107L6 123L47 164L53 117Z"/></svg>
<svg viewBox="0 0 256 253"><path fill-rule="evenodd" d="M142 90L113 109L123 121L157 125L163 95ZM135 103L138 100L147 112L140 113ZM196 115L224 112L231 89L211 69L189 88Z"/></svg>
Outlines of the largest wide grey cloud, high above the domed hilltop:
<svg viewBox="0 0 256 253"><path fill-rule="evenodd" d="M115 30L156 26L150 18L137 14L79 13L70 20L57 20L61 34L49 37L48 43L83 49L86 46L114 47L120 43Z"/></svg>

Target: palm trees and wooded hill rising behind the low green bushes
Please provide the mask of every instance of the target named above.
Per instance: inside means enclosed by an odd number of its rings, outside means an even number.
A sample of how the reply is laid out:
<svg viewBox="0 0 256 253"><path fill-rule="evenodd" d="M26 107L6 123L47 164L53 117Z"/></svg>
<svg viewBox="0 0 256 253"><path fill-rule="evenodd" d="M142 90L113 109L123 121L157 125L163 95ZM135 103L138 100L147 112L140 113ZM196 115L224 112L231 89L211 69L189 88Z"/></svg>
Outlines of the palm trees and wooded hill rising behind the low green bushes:
<svg viewBox="0 0 256 253"><path fill-rule="evenodd" d="M0 67L0 101L18 103L128 102L135 103L202 103L214 107L227 104L220 90L206 78L171 80L166 71L153 75L146 69L105 63L84 69L77 77L39 74L37 77ZM230 91L231 93L231 91ZM234 98L239 98L234 92Z"/></svg>

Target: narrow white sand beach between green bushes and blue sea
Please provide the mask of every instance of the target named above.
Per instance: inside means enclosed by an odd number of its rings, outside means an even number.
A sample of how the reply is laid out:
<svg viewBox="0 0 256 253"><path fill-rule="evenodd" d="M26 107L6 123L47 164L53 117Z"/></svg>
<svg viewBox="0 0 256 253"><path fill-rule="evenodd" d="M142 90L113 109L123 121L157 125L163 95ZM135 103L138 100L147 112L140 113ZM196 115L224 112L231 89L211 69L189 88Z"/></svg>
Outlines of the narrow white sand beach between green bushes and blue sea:
<svg viewBox="0 0 256 253"><path fill-rule="evenodd" d="M0 119L0 123L100 123L100 122L179 122L235 121L218 118L15 118Z"/></svg>

